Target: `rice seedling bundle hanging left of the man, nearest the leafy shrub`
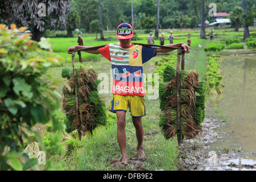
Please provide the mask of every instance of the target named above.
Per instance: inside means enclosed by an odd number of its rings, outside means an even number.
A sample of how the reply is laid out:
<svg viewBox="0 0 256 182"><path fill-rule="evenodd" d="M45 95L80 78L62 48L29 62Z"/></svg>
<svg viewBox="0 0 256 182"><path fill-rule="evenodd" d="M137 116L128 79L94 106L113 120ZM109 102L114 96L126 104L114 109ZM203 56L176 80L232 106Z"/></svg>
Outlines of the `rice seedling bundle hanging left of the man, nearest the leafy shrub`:
<svg viewBox="0 0 256 182"><path fill-rule="evenodd" d="M67 86L63 88L63 108L66 113L64 123L67 126L67 133L71 133L77 127L73 70L63 68L61 76L68 78L67 84L71 88ZM81 68L77 70L77 82L81 131L85 133L94 130L97 126L106 125L106 106L97 90L100 84L97 74L93 69Z"/></svg>

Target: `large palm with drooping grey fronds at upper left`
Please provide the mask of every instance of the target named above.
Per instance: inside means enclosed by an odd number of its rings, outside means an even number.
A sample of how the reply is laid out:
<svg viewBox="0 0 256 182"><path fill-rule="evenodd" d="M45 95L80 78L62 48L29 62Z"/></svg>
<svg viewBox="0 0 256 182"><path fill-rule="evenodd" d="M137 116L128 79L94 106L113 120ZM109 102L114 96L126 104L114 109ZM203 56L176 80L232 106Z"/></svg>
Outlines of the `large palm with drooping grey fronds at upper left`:
<svg viewBox="0 0 256 182"><path fill-rule="evenodd" d="M46 1L42 1L46 3ZM71 2L64 0L47 1L46 16L38 15L40 7L38 1L6 0L3 3L7 13L6 22L15 23L20 26L29 27L32 32L32 39L40 41L47 28L65 28L68 15L71 9Z"/></svg>

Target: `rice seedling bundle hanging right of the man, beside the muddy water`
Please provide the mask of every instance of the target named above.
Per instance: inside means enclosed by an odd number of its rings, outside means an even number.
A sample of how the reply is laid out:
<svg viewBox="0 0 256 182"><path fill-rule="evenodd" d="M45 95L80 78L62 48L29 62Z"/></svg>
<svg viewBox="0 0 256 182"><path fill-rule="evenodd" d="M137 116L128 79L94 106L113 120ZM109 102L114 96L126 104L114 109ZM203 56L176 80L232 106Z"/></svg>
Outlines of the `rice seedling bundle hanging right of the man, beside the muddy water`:
<svg viewBox="0 0 256 182"><path fill-rule="evenodd" d="M167 65L163 73L164 82L159 84L160 114L159 126L166 139L177 133L176 70ZM199 80L195 70L180 71L181 135L195 138L204 121L206 84Z"/></svg>

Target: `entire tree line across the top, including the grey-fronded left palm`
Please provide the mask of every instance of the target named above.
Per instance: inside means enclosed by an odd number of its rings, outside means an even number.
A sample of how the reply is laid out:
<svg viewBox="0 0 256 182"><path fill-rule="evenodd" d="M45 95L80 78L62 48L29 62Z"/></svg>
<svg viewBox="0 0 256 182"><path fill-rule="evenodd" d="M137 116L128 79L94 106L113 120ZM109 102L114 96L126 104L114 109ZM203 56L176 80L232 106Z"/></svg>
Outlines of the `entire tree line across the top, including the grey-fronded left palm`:
<svg viewBox="0 0 256 182"><path fill-rule="evenodd" d="M158 36L158 28L195 28L197 24L203 24L202 19L212 22L208 14L209 3L216 3L217 12L230 13L234 7L241 7L243 26L247 31L255 18L256 5L256 0L42 0L47 15L39 17L39 1L0 2L0 23L27 26L33 32L34 40L38 40L46 29L71 32L76 27L89 32L92 31L91 24L101 31L101 39L104 39L102 30L115 30L122 22L132 23L135 30L155 28L155 36ZM249 31L245 32L245 37L248 35Z"/></svg>

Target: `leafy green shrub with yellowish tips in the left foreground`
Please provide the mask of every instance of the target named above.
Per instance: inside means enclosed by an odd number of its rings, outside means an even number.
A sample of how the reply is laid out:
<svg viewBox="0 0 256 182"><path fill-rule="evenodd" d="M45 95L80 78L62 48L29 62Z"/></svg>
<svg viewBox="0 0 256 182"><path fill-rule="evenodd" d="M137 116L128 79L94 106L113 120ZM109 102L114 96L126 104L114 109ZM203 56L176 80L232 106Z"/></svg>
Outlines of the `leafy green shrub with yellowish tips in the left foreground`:
<svg viewBox="0 0 256 182"><path fill-rule="evenodd" d="M10 28L0 24L0 170L26 170L37 163L19 150L23 140L29 138L26 131L35 134L45 151L32 126L52 121L53 131L64 129L55 117L61 97L55 90L59 80L50 81L46 75L60 59L42 49L51 48L47 39L35 42L30 34L22 33L26 27L17 29L11 24ZM48 79L42 80L42 75Z"/></svg>

